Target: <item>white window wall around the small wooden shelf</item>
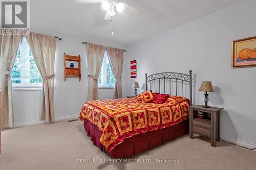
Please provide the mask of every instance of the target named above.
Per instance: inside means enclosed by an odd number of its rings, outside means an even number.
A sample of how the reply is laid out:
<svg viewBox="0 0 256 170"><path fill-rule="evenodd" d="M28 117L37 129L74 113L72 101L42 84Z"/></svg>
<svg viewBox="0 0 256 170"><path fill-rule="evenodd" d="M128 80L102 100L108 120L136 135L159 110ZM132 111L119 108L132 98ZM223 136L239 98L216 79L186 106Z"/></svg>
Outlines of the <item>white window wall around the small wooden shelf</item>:
<svg viewBox="0 0 256 170"><path fill-rule="evenodd" d="M86 45L82 41L95 44L124 48L117 43L99 38L80 37L61 33L47 28L31 27L31 32L62 37L56 40L55 56L55 91L54 106L56 120L77 118L83 103L87 102L87 58ZM63 80L63 53L67 55L81 55L81 81L78 78ZM125 57L125 54L124 54ZM124 70L124 75L126 70ZM99 99L112 99L114 89L99 89ZM13 110L15 126L39 123L41 90L13 91Z"/></svg>

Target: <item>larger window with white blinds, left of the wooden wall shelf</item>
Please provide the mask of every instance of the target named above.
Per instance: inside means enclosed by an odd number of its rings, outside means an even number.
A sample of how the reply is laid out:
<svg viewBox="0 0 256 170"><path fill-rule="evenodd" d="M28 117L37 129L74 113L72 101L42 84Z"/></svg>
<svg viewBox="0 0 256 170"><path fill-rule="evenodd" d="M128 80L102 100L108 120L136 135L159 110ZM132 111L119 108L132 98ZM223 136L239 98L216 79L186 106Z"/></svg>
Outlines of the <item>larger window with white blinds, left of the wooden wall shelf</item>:
<svg viewBox="0 0 256 170"><path fill-rule="evenodd" d="M27 39L24 37L12 68L13 87L42 86L42 78L36 67Z"/></svg>

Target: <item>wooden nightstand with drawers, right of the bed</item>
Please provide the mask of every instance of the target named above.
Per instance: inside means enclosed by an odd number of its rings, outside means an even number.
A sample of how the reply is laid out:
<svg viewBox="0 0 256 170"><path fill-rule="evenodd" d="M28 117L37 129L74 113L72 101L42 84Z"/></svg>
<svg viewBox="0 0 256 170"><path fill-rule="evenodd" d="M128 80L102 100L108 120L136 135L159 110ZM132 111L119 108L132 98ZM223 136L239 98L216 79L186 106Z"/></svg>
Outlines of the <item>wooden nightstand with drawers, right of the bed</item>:
<svg viewBox="0 0 256 170"><path fill-rule="evenodd" d="M189 138L194 133L210 138L210 145L216 147L216 140L220 141L220 113L223 108L203 108L202 105L189 107ZM197 112L210 114L210 119L197 118Z"/></svg>

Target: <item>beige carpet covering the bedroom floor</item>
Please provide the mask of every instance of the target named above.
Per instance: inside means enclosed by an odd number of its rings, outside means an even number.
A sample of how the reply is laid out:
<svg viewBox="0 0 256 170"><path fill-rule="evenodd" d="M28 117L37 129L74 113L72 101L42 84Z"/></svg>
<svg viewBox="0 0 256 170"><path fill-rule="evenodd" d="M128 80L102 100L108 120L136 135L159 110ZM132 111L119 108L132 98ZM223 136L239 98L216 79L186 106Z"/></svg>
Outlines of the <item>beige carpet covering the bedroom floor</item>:
<svg viewBox="0 0 256 170"><path fill-rule="evenodd" d="M125 163L114 161L94 147L80 121L40 124L3 131L0 169L256 169L256 152L223 141L217 148L208 139L188 135L167 142ZM77 163L77 159L84 163ZM86 163L87 160L98 162ZM156 163L176 159L179 163ZM127 163L137 160L152 163ZM155 162L155 163L153 163Z"/></svg>

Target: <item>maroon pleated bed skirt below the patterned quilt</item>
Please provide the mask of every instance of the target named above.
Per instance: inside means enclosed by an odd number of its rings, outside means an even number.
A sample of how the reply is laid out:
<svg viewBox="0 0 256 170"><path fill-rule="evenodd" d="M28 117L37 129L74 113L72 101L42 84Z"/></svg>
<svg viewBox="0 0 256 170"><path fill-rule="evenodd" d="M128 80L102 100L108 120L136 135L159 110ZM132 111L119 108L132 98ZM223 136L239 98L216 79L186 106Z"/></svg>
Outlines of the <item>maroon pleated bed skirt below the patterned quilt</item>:
<svg viewBox="0 0 256 170"><path fill-rule="evenodd" d="M99 141L102 131L100 131L99 128L92 124L88 119L84 119L83 126L87 132L87 135L91 137L93 144L96 145L101 151L103 151L104 146ZM189 121L187 119L172 127L158 129L155 131L148 131L132 136L130 138L126 138L108 154L113 158L130 157L132 155L136 155L157 147L158 145L176 137L184 135L188 133L188 131ZM104 150L104 152L108 151Z"/></svg>

